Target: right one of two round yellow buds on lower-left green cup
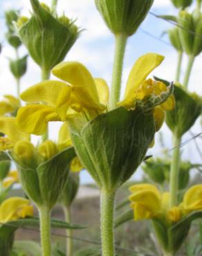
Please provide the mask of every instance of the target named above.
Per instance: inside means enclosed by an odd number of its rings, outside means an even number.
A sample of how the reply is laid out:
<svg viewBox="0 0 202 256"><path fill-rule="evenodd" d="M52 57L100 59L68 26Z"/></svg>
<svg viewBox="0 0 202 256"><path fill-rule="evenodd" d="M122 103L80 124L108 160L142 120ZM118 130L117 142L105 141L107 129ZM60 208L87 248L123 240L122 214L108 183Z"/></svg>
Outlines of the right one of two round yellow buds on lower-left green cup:
<svg viewBox="0 0 202 256"><path fill-rule="evenodd" d="M57 154L57 147L52 140L45 140L41 145L39 145L38 152L44 157L44 159L48 160Z"/></svg>

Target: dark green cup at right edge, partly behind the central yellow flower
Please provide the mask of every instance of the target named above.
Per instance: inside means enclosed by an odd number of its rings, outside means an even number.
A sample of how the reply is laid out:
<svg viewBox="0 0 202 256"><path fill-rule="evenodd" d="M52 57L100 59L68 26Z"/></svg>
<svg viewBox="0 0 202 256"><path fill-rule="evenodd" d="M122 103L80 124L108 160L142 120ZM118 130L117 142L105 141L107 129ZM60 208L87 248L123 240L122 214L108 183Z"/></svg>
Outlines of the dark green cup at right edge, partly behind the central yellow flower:
<svg viewBox="0 0 202 256"><path fill-rule="evenodd" d="M190 95L180 86L174 86L176 107L166 113L166 123L176 136L181 137L201 115L202 102L197 95Z"/></svg>

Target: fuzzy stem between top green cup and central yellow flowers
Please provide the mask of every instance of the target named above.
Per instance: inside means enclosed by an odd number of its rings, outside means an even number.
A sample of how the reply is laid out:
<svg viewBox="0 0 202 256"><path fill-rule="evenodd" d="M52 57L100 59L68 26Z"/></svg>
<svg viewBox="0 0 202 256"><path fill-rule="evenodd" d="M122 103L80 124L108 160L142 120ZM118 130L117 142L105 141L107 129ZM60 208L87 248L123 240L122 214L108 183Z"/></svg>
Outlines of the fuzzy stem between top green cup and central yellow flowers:
<svg viewBox="0 0 202 256"><path fill-rule="evenodd" d="M114 109L116 103L120 99L121 79L122 79L122 67L125 55L125 48L127 45L127 35L118 34L115 35L115 55L113 60L113 75L111 82L111 93L109 99L109 109Z"/></svg>

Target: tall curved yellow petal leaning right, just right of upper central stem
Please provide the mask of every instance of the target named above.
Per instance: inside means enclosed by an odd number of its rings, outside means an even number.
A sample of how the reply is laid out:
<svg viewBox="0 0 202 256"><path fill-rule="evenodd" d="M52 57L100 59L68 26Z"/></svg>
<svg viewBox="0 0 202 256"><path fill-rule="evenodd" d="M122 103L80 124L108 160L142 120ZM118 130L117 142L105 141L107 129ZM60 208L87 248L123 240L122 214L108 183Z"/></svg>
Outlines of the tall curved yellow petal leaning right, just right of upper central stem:
<svg viewBox="0 0 202 256"><path fill-rule="evenodd" d="M141 56L129 73L124 100L119 102L118 105L122 105L127 109L134 108L136 90L146 80L147 75L149 75L154 68L159 66L163 60L164 57L156 53L147 53L146 55Z"/></svg>

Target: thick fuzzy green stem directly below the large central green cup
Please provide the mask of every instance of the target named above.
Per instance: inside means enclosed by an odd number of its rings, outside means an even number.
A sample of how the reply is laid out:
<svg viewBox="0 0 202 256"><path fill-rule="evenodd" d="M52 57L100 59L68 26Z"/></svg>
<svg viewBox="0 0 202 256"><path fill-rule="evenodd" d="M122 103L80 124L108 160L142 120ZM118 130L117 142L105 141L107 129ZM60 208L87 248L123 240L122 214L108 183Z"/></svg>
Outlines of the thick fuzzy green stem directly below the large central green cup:
<svg viewBox="0 0 202 256"><path fill-rule="evenodd" d="M101 189L100 194L100 223L102 239L102 256L114 256L113 214L115 205L115 192Z"/></svg>

